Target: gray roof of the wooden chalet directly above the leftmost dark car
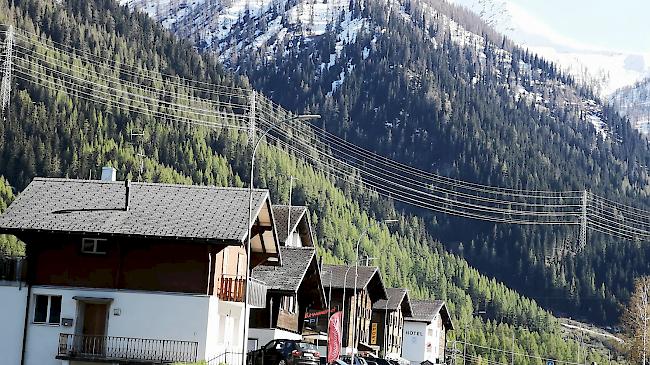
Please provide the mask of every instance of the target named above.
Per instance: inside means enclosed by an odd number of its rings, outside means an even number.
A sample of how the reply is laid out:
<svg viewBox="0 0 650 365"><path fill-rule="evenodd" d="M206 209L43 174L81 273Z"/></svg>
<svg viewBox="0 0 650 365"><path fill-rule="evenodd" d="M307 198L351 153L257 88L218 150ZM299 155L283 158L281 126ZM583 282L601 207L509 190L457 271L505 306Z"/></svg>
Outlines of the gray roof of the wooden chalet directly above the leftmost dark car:
<svg viewBox="0 0 650 365"><path fill-rule="evenodd" d="M316 259L312 247L280 247L282 266L259 265L253 269L253 277L263 281L269 290L297 293L309 265Z"/></svg>

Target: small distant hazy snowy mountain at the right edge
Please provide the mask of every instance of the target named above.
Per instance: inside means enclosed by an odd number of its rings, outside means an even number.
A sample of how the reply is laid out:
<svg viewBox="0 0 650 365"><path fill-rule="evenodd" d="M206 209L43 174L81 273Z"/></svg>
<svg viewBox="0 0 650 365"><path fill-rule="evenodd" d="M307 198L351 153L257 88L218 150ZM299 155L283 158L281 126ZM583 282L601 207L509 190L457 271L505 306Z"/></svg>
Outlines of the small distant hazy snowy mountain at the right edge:
<svg viewBox="0 0 650 365"><path fill-rule="evenodd" d="M650 77L616 90L610 102L644 134L650 134Z"/></svg>

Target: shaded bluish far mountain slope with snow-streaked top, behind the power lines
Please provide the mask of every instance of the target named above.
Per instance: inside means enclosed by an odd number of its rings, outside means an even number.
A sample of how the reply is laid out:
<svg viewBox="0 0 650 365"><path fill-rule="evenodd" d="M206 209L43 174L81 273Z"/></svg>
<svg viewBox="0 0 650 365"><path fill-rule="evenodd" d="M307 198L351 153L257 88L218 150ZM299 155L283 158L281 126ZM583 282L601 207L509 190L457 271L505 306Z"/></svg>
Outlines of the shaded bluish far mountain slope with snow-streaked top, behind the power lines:
<svg viewBox="0 0 650 365"><path fill-rule="evenodd" d="M648 206L648 142L589 88L466 10L433 0L169 5L158 17L176 34L369 150L466 181ZM411 212L482 272L586 320L616 322L633 277L649 272L647 245L591 233L573 254L575 229Z"/></svg>

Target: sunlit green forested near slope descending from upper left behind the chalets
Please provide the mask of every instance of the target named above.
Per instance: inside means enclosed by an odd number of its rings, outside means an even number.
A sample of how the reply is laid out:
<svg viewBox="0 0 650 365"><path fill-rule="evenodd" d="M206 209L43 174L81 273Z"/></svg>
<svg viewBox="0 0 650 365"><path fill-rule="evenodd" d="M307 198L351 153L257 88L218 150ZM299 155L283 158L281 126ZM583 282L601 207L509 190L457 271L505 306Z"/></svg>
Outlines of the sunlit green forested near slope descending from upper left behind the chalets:
<svg viewBox="0 0 650 365"><path fill-rule="evenodd" d="M223 72L210 56L198 55L151 20L112 1L0 0L0 10L0 23L29 30L20 32L16 44L11 103L7 120L0 125L0 175L16 191L34 176L87 178L105 164L117 167L120 178L133 178L140 161L147 181L242 185L240 176L246 177L250 152L245 133L190 126L173 108L156 116L153 110L142 111L134 99L139 95L165 101L173 96L196 99L198 94L209 95L206 85L245 91L245 80ZM0 27L0 40L5 30ZM56 72L34 61L39 54L58 65ZM69 88L72 78L91 80L95 87ZM208 84L197 88L200 82ZM132 97L120 103L98 102L107 84L128 90ZM134 131L146 136L142 160L130 138ZM578 351L577 341L565 339L548 312L445 252L421 219L400 214L371 191L338 188L331 177L276 145L262 145L256 165L256 184L271 189L277 202L287 196L287 177L298 178L294 203L310 207L326 261L353 258L360 227L369 227L362 246L380 257L387 284L406 286L414 297L448 300L459 325L471 323L469 340L510 348L516 332L516 349L540 358L570 359ZM7 190L9 183L0 182ZM8 202L11 194L2 194L2 200ZM385 217L398 217L400 222L389 231L378 222ZM475 303L489 303L490 316L508 317L523 327L472 319ZM589 356L603 359L598 351ZM521 364L534 362L527 358Z"/></svg>

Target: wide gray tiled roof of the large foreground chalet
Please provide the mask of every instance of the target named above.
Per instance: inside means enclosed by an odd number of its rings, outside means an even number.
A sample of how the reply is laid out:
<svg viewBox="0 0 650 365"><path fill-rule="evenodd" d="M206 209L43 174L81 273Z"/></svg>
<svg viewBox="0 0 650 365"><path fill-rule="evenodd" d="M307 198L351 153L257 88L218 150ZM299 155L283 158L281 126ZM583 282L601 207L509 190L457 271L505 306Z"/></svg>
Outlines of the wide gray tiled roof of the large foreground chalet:
<svg viewBox="0 0 650 365"><path fill-rule="evenodd" d="M123 181L35 178L0 216L0 231L59 231L242 241L248 190ZM268 199L254 190L254 214Z"/></svg>

